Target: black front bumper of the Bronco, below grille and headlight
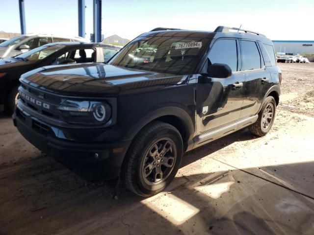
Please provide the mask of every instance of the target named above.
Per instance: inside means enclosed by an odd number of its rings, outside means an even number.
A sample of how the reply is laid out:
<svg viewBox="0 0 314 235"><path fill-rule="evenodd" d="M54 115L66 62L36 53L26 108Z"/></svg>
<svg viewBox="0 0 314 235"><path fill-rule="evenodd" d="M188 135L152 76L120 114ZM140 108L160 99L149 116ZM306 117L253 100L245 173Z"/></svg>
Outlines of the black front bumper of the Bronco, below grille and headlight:
<svg viewBox="0 0 314 235"><path fill-rule="evenodd" d="M116 178L131 141L91 143L53 137L47 123L16 108L14 125L27 141L89 181ZM53 127L57 128L57 127ZM53 133L52 133L53 134Z"/></svg>

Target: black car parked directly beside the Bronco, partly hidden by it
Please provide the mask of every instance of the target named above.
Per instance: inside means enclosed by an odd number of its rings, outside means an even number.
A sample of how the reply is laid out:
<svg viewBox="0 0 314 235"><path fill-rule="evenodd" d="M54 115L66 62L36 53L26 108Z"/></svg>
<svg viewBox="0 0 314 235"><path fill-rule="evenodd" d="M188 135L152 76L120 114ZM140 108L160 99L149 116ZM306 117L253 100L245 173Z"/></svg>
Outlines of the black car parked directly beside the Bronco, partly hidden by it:
<svg viewBox="0 0 314 235"><path fill-rule="evenodd" d="M21 74L47 65L107 62L120 50L101 43L64 42L34 48L12 58L0 59L0 105L13 111Z"/></svg>

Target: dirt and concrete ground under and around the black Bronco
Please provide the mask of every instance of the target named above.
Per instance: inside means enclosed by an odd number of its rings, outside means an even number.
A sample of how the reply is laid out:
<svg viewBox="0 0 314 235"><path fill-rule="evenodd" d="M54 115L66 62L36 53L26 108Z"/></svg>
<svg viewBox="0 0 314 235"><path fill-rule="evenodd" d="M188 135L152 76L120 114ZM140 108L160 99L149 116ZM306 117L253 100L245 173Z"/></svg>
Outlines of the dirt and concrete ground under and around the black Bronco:
<svg viewBox="0 0 314 235"><path fill-rule="evenodd" d="M314 234L314 63L279 64L281 102L263 138L246 129L184 154L150 198L91 184L0 115L0 235Z"/></svg>

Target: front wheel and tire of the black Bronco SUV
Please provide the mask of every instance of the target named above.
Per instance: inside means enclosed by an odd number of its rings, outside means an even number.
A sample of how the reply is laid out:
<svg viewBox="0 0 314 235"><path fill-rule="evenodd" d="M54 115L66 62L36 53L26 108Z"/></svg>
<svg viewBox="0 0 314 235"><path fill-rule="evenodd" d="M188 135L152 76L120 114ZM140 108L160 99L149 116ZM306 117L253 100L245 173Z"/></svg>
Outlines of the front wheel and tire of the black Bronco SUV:
<svg viewBox="0 0 314 235"><path fill-rule="evenodd" d="M161 192L177 174L182 155L182 137L174 126L161 121L148 124L124 161L121 176L126 188L143 197Z"/></svg>

